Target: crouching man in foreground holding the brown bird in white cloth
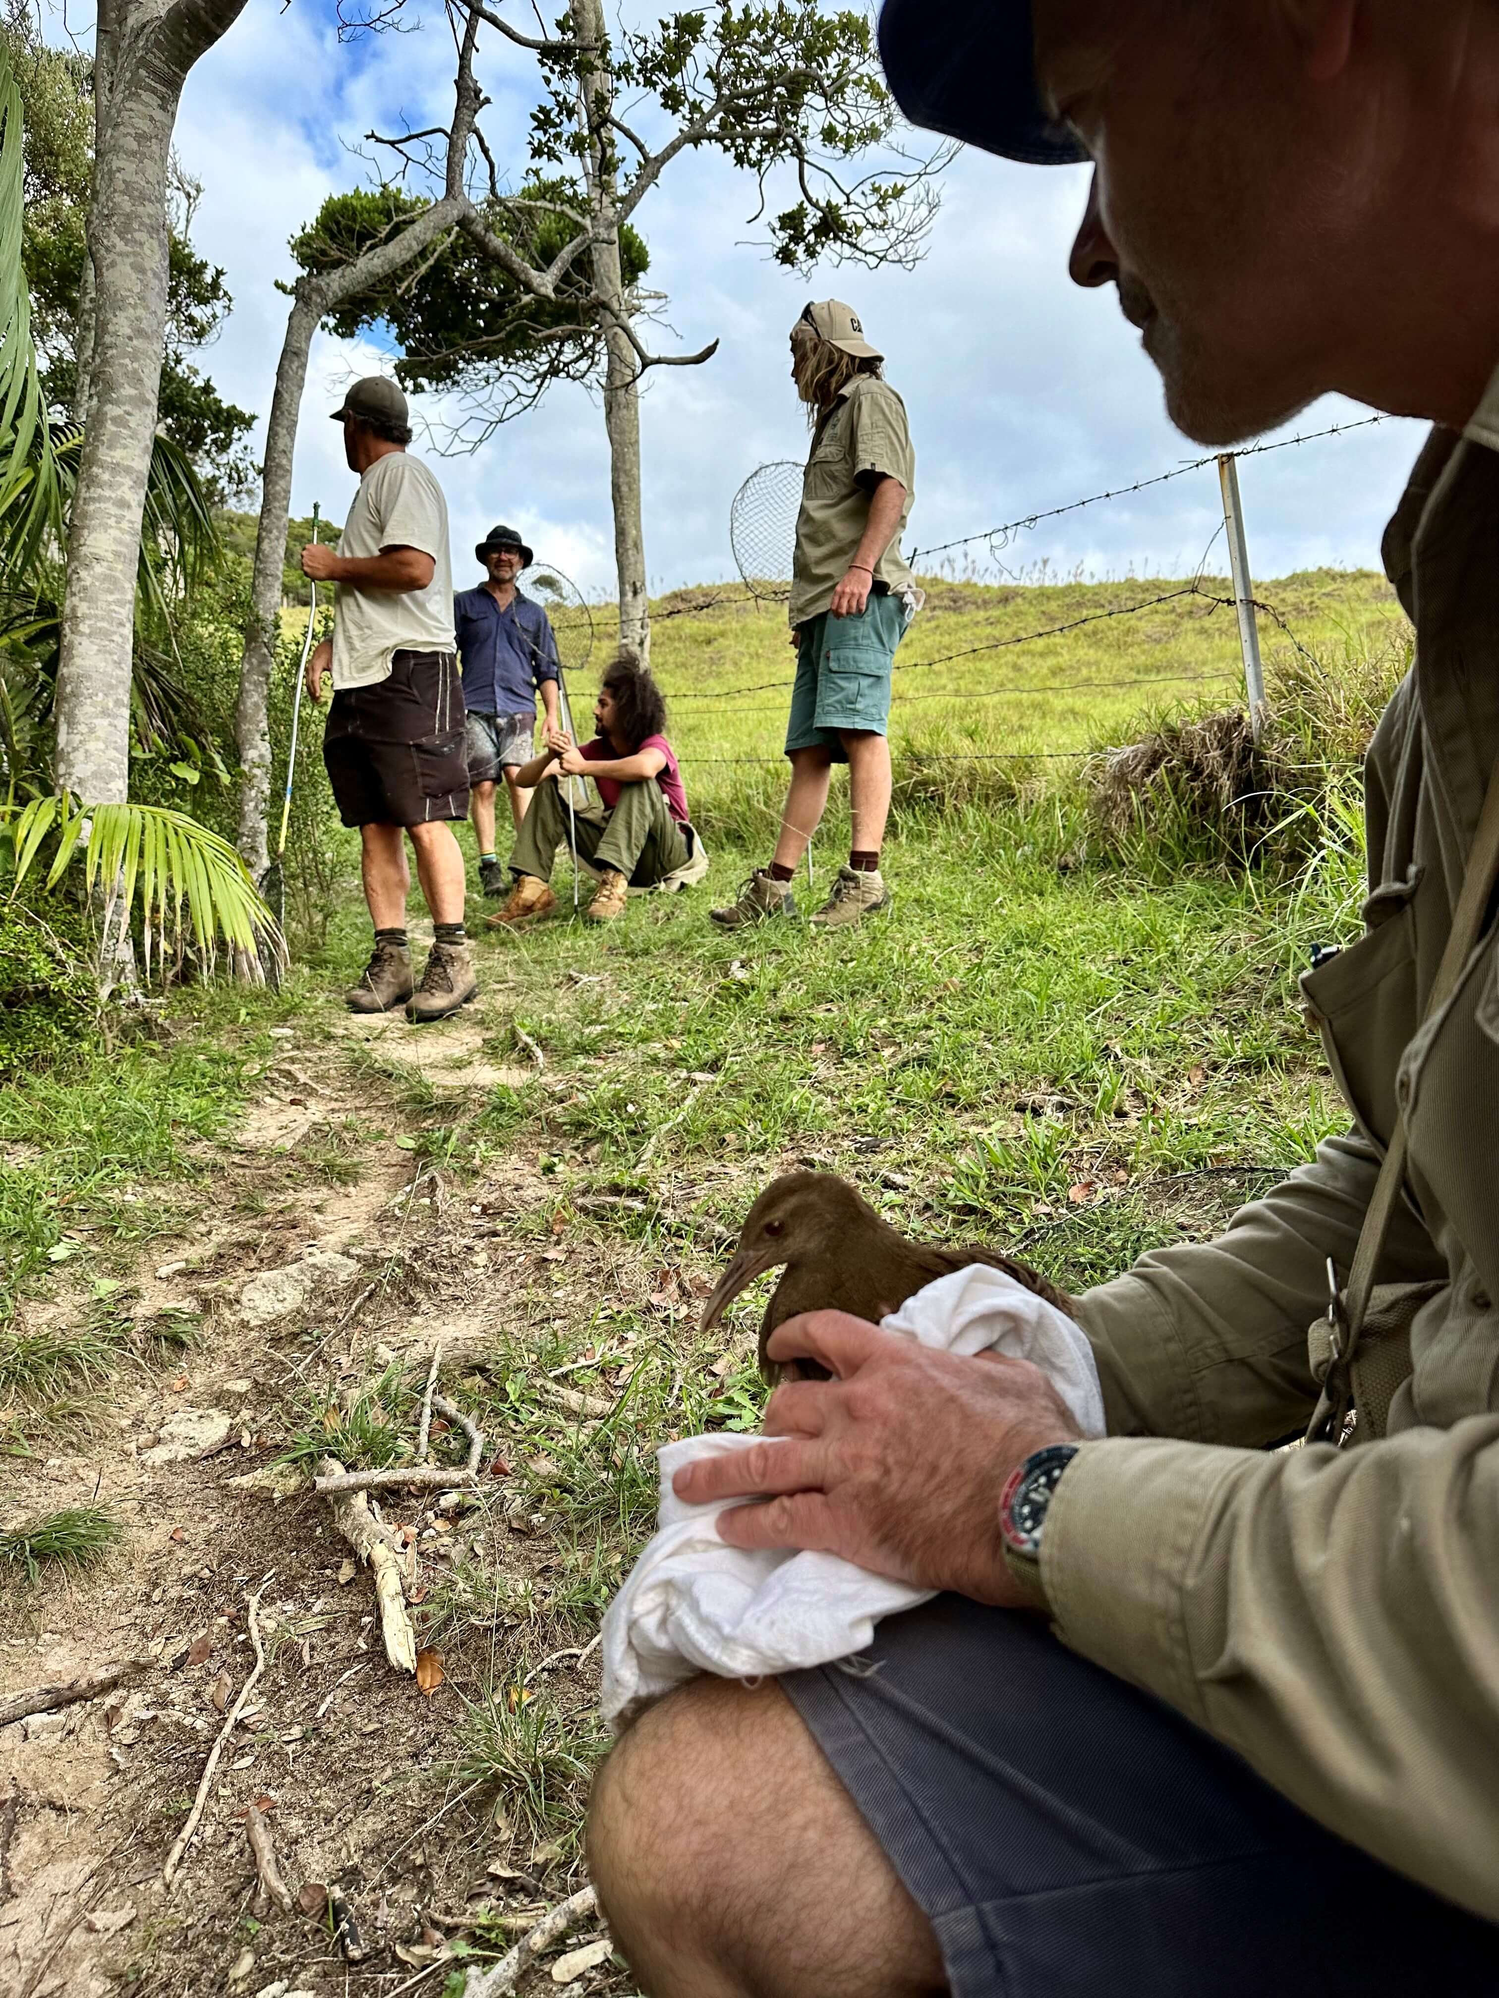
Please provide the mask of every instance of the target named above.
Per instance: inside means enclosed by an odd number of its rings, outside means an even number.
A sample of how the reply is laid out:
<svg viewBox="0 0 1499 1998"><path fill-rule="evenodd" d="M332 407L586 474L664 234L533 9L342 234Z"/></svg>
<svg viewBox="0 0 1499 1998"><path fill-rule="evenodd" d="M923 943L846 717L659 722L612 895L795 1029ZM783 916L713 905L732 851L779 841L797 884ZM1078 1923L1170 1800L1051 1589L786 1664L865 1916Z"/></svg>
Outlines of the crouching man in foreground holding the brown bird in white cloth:
<svg viewBox="0 0 1499 1998"><path fill-rule="evenodd" d="M859 1658L636 1720L590 1878L652 1998L1479 1998L1499 4L885 0L881 48L911 118L1093 162L1073 278L1117 288L1189 438L1325 392L1435 424L1385 535L1417 643L1367 755L1367 929L1303 977L1345 1123L1221 1239L1071 1301L1105 1435L1025 1361L781 1325L771 1359L827 1377L678 1506L937 1594Z"/></svg>

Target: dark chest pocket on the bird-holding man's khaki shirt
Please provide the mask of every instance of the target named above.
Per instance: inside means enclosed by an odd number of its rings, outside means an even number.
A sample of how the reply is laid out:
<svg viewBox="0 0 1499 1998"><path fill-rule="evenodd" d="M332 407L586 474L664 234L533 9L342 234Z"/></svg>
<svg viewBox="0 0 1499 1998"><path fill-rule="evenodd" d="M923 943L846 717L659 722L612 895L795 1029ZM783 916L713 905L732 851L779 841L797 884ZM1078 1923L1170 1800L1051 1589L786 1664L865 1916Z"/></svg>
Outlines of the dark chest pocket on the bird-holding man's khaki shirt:
<svg viewBox="0 0 1499 1998"><path fill-rule="evenodd" d="M1301 997L1353 1117L1381 1149L1395 1129L1395 1073L1417 1025L1415 923L1409 897L1357 943L1301 975Z"/></svg>

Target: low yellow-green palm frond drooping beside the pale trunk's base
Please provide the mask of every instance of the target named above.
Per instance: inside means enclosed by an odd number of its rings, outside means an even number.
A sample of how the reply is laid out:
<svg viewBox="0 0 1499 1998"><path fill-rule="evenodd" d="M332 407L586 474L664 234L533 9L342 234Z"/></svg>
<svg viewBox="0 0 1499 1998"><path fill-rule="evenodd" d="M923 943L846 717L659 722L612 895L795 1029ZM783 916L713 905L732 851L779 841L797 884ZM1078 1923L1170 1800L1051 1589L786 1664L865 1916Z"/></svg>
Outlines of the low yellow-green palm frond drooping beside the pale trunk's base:
<svg viewBox="0 0 1499 1998"><path fill-rule="evenodd" d="M262 953L284 963L286 943L240 855L210 827L162 805L80 805L72 797L36 797L0 807L0 829L14 855L12 893L42 849L56 841L46 885L56 887L82 855L84 885L106 901L104 929L116 911L140 923L144 969L166 969L192 935L204 969L228 949L236 967L256 975Z"/></svg>

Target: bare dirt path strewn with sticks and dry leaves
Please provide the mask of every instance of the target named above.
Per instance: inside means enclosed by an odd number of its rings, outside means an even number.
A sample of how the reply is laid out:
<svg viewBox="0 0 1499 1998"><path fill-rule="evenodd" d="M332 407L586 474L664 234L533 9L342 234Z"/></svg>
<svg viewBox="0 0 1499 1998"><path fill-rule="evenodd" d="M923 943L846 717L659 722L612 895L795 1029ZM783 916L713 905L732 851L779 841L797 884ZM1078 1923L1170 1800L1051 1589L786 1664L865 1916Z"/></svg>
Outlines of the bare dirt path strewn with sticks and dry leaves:
<svg viewBox="0 0 1499 1998"><path fill-rule="evenodd" d="M540 1516L518 1514L516 1479L486 1477L462 1510L406 1495L386 1506L416 1540L414 1600L440 1612L448 1676L430 1696L388 1666L370 1576L352 1572L326 1502L242 1483L308 1425L364 1419L362 1395L384 1393L384 1417L408 1421L410 1387L390 1383L420 1387L436 1333L448 1393L494 1395L464 1369L496 1343L542 1341L554 1357L564 1333L588 1337L590 1297L642 1295L648 1273L630 1249L538 1237L548 1183L532 1161L510 1157L460 1187L410 1149L414 1101L436 1091L478 1105L496 1083L534 1079L494 1053L498 1005L422 1037L332 1013L278 1031L260 1099L206 1153L192 1227L154 1243L112 1301L148 1343L182 1325L192 1343L122 1369L66 1453L8 1469L8 1512L104 1502L126 1530L102 1566L0 1604L0 1694L150 1660L112 1694L0 1728L8 1998L102 1998L122 1980L144 1994L324 1998L394 1994L404 1980L434 1994L462 1960L454 1948L502 1948L582 1880L576 1838L538 1832L504 1786L468 1778L460 1754L476 1708L516 1688L518 1660L556 1634L536 1614L494 1614L558 1566ZM534 1407L510 1441L494 1413L482 1419L500 1453L536 1449ZM578 1425L566 1409L554 1421ZM476 1590L484 1616L464 1614ZM268 1668L166 1890L162 1858L252 1662L252 1594ZM578 1644L574 1630L558 1644ZM594 1686L592 1664L546 1670L560 1726L592 1730ZM528 1698L528 1686L510 1694ZM254 1910L250 1804L304 1892L290 1914ZM354 1914L352 1948L332 1938L324 1888ZM570 1988L630 1984L604 1966Z"/></svg>

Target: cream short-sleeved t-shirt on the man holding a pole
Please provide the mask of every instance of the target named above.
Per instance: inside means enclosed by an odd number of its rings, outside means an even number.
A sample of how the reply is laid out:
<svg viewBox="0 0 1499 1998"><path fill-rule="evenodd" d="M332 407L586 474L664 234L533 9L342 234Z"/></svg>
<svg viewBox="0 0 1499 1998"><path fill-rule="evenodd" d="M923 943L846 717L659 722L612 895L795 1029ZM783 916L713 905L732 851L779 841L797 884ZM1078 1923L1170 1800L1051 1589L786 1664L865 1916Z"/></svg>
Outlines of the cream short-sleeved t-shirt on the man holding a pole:
<svg viewBox="0 0 1499 1998"><path fill-rule="evenodd" d="M360 480L340 555L420 547L432 555L426 589L356 589L340 583L334 607L334 689L390 679L394 651L456 651L448 501L420 458L386 452Z"/></svg>

